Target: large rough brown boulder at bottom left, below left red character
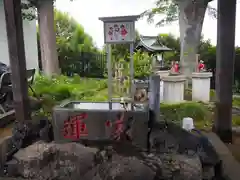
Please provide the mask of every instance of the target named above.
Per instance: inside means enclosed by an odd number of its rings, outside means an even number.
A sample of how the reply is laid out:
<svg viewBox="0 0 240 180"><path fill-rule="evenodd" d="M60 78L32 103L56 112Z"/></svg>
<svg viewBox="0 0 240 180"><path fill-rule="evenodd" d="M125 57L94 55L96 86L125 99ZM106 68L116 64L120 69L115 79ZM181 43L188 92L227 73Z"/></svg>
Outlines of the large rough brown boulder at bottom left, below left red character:
<svg viewBox="0 0 240 180"><path fill-rule="evenodd" d="M94 167L97 149L81 144L35 143L15 155L15 176L31 179L79 179Z"/></svg>

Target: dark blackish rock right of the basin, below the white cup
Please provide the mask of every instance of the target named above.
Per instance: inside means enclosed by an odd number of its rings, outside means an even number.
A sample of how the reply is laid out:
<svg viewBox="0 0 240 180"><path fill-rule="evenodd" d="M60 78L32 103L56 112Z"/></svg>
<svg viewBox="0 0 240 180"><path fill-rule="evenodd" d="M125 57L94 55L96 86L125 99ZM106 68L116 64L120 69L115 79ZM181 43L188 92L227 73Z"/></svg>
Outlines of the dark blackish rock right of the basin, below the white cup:
<svg viewBox="0 0 240 180"><path fill-rule="evenodd" d="M216 165L220 161L216 150L207 137L198 133L185 131L172 122L168 122L166 127L162 124L155 124L150 141L152 148L160 151L159 153L197 154L203 165Z"/></svg>

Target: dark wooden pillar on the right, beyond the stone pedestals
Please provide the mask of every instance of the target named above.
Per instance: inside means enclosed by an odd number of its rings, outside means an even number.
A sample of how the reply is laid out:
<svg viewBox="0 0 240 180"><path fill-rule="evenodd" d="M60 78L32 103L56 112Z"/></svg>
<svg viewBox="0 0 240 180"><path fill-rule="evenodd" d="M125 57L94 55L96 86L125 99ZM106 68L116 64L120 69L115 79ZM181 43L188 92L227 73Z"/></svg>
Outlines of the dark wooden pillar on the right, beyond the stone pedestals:
<svg viewBox="0 0 240 180"><path fill-rule="evenodd" d="M216 112L214 131L232 142L232 84L235 59L236 0L218 0Z"/></svg>

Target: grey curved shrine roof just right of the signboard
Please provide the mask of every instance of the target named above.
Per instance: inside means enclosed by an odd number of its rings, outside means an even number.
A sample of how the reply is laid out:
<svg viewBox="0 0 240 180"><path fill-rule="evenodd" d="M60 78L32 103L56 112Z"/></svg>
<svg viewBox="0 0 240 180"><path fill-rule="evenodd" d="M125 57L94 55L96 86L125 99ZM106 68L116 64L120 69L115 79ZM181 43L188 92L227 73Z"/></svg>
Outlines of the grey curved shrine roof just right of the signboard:
<svg viewBox="0 0 240 180"><path fill-rule="evenodd" d="M160 42L158 36L140 36L140 41L136 49L140 49L141 47L146 48L150 52L172 51L172 49L164 46Z"/></svg>

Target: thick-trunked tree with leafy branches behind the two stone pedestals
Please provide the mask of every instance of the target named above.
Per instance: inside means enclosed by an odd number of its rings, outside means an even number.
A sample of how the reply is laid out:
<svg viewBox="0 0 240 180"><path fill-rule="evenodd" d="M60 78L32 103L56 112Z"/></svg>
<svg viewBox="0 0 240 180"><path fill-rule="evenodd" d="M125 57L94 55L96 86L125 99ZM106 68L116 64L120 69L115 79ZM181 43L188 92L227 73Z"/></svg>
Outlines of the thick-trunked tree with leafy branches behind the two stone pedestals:
<svg viewBox="0 0 240 180"><path fill-rule="evenodd" d="M179 20L180 28L180 62L184 74L190 76L195 69L195 55L200 43L202 25L206 9L216 17L216 10L208 6L212 0L157 0L156 7L145 11L142 15L154 22L155 15L163 17L157 26L166 25Z"/></svg>

